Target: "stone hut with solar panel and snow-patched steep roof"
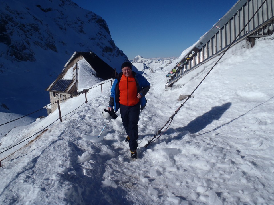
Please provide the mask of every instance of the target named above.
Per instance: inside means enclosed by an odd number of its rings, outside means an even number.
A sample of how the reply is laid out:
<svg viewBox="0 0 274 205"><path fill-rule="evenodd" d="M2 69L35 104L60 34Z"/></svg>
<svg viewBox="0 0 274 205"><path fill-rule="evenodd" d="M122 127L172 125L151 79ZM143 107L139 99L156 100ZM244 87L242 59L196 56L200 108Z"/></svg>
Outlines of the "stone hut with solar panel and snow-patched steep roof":
<svg viewBox="0 0 274 205"><path fill-rule="evenodd" d="M47 113L50 114L57 109L57 100L60 103L67 101L96 83L115 78L115 75L114 69L94 52L74 52L57 79L46 89L49 91L52 104L46 107Z"/></svg>

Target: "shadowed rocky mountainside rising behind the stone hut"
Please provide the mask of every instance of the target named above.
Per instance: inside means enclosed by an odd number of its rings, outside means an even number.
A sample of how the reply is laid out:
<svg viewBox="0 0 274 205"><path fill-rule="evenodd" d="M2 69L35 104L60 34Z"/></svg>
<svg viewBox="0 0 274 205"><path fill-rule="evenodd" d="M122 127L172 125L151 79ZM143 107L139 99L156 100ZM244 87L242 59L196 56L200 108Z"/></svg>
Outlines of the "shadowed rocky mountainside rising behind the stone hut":
<svg viewBox="0 0 274 205"><path fill-rule="evenodd" d="M92 51L118 72L128 60L105 20L70 0L0 0L0 28L3 112L29 114L48 104L45 89L75 51Z"/></svg>

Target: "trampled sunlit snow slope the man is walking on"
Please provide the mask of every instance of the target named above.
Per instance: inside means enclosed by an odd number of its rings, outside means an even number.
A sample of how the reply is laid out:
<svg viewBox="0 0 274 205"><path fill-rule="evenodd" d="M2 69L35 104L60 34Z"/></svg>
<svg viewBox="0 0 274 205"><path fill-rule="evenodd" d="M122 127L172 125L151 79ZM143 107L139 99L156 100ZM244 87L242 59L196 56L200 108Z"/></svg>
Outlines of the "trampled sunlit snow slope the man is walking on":
<svg viewBox="0 0 274 205"><path fill-rule="evenodd" d="M57 120L25 147L33 138L0 153L1 203L273 204L274 36L256 40L252 49L244 46L227 51L148 148L144 145L182 104L177 97L189 95L216 59L168 91L170 67L146 75L151 88L140 114L136 161L120 118L97 138L107 121L101 112L110 82L103 93L100 86L91 89L88 103L84 95L62 103L63 122L56 110L12 130L0 141L0 151Z"/></svg>

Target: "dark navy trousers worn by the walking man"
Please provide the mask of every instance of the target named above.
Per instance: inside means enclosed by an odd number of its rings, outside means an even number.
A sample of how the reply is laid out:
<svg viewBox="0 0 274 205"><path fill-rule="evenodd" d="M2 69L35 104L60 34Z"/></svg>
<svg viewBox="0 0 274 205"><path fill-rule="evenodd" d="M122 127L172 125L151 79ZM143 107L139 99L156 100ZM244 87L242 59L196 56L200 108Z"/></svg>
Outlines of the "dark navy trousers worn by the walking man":
<svg viewBox="0 0 274 205"><path fill-rule="evenodd" d="M129 136L129 149L136 150L138 147L138 122L140 115L140 103L134 106L120 104L120 114L126 134Z"/></svg>

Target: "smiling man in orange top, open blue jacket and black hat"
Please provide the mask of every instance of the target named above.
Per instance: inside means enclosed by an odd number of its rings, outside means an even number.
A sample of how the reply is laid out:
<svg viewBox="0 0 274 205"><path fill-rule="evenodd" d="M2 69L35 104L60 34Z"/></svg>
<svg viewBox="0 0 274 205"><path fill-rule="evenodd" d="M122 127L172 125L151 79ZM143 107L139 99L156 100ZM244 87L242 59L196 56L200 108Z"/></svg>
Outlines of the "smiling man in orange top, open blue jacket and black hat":
<svg viewBox="0 0 274 205"><path fill-rule="evenodd" d="M123 126L126 130L126 143L129 143L131 158L137 158L138 122L140 109L146 106L145 95L150 88L146 78L132 71L130 62L124 62L121 66L122 72L116 76L111 88L108 110L120 114Z"/></svg>

